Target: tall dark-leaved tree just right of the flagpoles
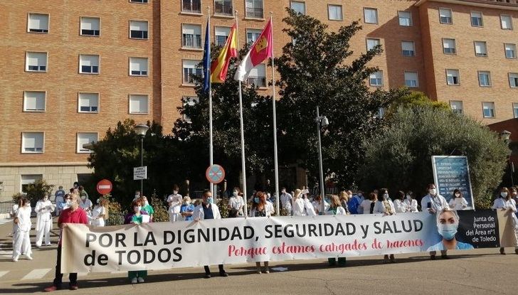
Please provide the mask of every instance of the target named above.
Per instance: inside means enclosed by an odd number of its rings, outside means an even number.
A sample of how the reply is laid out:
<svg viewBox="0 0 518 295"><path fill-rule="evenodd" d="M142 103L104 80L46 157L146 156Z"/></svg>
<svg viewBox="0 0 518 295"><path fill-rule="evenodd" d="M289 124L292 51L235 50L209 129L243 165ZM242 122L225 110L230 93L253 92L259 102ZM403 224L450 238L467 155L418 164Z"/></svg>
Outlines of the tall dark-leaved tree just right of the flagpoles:
<svg viewBox="0 0 518 295"><path fill-rule="evenodd" d="M337 32L316 18L287 9L283 31L292 38L275 59L280 73L277 85L282 99L279 103L279 142L281 161L295 163L310 171L313 179L317 169L317 134L314 127L315 108L329 119L322 137L324 174L340 186L351 186L364 158L361 142L368 141L384 126L377 116L379 109L408 90L370 90L366 85L371 73L369 61L381 53L381 46L351 60L351 38L361 30L358 21L342 26Z"/></svg>

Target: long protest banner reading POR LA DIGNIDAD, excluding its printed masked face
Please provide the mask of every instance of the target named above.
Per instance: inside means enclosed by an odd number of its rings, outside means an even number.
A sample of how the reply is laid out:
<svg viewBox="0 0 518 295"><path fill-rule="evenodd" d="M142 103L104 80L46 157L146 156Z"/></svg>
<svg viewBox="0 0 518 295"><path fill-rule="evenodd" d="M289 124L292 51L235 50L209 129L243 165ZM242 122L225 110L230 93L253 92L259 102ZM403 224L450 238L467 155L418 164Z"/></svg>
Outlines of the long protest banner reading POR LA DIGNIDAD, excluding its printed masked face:
<svg viewBox="0 0 518 295"><path fill-rule="evenodd" d="M507 225L508 214L478 210L459 211L459 215L457 249L499 247L499 222ZM438 220L430 213L400 213L112 227L70 224L63 230L61 268L63 272L112 272L424 252L443 245Z"/></svg>

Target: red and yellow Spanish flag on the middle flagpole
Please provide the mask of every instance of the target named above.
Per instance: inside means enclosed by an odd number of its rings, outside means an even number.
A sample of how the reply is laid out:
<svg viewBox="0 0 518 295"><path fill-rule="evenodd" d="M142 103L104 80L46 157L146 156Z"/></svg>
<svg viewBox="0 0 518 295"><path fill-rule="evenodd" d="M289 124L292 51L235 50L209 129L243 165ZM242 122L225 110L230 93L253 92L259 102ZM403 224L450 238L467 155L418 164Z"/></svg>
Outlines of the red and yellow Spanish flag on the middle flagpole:
<svg viewBox="0 0 518 295"><path fill-rule="evenodd" d="M211 63L211 82L223 83L226 80L226 73L228 65L231 63L231 58L238 57L238 40L236 36L236 23L231 28L231 33L228 35L227 41L218 59Z"/></svg>

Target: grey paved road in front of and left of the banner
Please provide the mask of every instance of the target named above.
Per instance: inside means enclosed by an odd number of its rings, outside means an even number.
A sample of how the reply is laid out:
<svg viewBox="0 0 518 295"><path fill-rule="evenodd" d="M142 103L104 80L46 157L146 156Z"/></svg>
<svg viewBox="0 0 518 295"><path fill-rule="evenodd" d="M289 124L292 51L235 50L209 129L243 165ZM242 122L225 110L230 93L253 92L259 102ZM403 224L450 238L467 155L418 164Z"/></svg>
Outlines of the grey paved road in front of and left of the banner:
<svg viewBox="0 0 518 295"><path fill-rule="evenodd" d="M0 225L0 294L39 292L54 277L56 246L33 249L32 261L11 262L10 230L10 222ZM348 259L344 268L327 267L322 259L280 262L271 267L285 270L270 274L255 274L251 264L229 265L230 277L212 279L203 279L200 268L171 269L149 272L146 283L134 285L125 272L80 274L73 294L518 294L518 255L512 249L505 256L497 252L457 251L452 259L435 261L425 253L401 254L395 264L361 257Z"/></svg>

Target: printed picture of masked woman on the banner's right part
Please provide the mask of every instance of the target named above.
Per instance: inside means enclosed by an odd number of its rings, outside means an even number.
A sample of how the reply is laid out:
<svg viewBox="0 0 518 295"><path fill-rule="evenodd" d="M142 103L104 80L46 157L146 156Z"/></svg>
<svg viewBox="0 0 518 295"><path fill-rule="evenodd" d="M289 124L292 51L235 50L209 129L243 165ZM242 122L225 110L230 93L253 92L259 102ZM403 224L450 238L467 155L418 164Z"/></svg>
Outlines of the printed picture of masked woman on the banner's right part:
<svg viewBox="0 0 518 295"><path fill-rule="evenodd" d="M437 244L428 247L427 251L443 250L472 250L473 246L459 242L455 238L459 227L459 215L457 211L444 208L437 213L437 230L443 239Z"/></svg>

